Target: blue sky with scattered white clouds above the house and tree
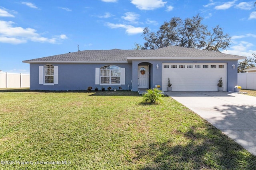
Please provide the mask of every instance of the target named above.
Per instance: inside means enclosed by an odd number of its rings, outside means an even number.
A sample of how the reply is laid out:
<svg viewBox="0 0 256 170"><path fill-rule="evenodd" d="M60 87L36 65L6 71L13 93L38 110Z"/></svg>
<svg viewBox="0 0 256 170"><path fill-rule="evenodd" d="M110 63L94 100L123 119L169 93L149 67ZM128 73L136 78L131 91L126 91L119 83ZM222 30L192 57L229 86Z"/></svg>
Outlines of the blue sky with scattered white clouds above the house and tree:
<svg viewBox="0 0 256 170"><path fill-rule="evenodd" d="M223 53L256 53L255 0L1 0L0 70L29 74L24 60L91 49L143 45L144 27L158 31L173 17L199 14L232 37Z"/></svg>

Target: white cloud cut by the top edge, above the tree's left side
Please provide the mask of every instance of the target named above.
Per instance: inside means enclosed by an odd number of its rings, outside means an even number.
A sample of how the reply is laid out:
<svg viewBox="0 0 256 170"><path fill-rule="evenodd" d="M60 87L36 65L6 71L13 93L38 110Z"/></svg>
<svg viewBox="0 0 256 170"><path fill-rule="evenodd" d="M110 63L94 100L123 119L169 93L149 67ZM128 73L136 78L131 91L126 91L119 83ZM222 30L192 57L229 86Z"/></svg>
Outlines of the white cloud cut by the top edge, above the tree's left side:
<svg viewBox="0 0 256 170"><path fill-rule="evenodd" d="M131 3L140 10L154 10L164 7L167 2L163 2L162 0L132 0Z"/></svg>

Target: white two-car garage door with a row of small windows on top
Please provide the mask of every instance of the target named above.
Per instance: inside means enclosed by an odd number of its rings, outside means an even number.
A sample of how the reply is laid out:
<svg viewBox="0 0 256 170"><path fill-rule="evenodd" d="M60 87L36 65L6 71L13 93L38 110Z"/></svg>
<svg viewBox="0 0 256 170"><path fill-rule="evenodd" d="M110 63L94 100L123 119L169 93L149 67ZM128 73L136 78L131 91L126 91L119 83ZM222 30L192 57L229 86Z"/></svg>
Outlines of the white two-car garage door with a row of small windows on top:
<svg viewBox="0 0 256 170"><path fill-rule="evenodd" d="M163 63L162 90L167 91L168 78L172 91L218 91L222 77L226 91L226 63Z"/></svg>

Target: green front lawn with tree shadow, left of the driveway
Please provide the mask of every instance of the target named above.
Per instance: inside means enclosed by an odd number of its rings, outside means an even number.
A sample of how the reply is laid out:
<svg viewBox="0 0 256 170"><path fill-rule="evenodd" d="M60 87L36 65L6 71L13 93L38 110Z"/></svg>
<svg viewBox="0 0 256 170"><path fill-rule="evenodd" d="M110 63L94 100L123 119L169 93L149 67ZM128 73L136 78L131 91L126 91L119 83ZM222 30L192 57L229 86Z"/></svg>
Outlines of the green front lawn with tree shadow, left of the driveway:
<svg viewBox="0 0 256 170"><path fill-rule="evenodd" d="M0 169L256 169L256 156L172 98L142 100L128 91L0 92L0 160L14 161Z"/></svg>

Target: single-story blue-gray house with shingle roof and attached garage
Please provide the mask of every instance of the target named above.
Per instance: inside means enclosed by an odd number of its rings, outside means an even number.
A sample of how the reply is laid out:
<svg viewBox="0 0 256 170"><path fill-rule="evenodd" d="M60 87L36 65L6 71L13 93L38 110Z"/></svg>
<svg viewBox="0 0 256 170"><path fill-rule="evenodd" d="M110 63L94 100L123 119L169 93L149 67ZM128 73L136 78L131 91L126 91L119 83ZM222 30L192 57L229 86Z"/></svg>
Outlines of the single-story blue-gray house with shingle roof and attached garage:
<svg viewBox="0 0 256 170"><path fill-rule="evenodd" d="M30 90L86 90L111 86L133 91L224 91L237 85L238 55L169 46L155 50L85 50L26 60L30 64Z"/></svg>

